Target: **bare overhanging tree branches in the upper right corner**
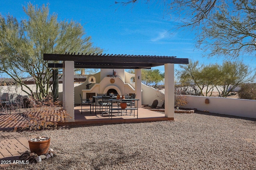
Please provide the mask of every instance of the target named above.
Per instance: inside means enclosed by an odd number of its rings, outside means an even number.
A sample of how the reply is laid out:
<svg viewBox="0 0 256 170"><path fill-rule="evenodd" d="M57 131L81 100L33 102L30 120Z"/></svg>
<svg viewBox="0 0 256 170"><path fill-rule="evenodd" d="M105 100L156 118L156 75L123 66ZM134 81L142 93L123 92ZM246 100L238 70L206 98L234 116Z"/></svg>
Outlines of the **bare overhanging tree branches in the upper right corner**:
<svg viewBox="0 0 256 170"><path fill-rule="evenodd" d="M164 14L179 20L184 30L195 29L197 47L208 56L241 54L255 57L256 0L123 0L123 5L145 2L161 4ZM152 6L155 6L152 5Z"/></svg>

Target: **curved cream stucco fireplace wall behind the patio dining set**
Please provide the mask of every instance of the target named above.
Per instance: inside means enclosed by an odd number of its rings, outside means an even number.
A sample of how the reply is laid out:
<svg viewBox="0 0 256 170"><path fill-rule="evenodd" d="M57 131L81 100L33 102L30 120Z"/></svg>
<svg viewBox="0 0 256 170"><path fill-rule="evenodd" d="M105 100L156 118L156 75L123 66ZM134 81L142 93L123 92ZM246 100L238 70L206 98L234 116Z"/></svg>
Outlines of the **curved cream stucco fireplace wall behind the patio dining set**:
<svg viewBox="0 0 256 170"><path fill-rule="evenodd" d="M107 76L113 73L112 69L101 69L97 74L88 75L88 77L94 76L96 78L96 84L91 84L90 89L86 89L85 86L76 87L74 92L75 104L80 103L80 98L76 96L79 96L81 91L84 99L86 98L86 93L95 93L95 95L97 95L97 93L104 94L111 88L115 89L120 95L135 93L135 84L131 82L131 78L135 75L125 72L124 69L115 69L114 71L117 73L117 77L114 78L114 83L110 82L112 77ZM99 75L100 82L98 82ZM88 78L84 84L88 84L88 81L90 81L89 79L90 78ZM158 100L158 106L162 106L164 102L164 94L150 86L142 84L142 104L151 106L154 100Z"/></svg>

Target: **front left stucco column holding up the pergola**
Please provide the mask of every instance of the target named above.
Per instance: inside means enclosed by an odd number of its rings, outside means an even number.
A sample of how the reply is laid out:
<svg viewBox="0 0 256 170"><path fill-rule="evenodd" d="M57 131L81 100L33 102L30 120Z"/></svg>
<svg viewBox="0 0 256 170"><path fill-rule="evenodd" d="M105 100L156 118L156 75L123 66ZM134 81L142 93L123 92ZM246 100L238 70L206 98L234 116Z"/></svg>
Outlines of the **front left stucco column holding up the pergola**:
<svg viewBox="0 0 256 170"><path fill-rule="evenodd" d="M63 109L75 121L74 113L74 61L65 61L63 68Z"/></svg>

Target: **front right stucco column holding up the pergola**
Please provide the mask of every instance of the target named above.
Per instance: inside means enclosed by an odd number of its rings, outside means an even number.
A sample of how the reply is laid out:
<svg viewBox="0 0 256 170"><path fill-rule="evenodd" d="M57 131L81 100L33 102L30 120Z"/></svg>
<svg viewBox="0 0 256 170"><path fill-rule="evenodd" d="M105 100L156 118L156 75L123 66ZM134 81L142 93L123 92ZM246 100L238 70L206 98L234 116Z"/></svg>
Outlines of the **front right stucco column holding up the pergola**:
<svg viewBox="0 0 256 170"><path fill-rule="evenodd" d="M164 64L164 113L174 118L174 64Z"/></svg>

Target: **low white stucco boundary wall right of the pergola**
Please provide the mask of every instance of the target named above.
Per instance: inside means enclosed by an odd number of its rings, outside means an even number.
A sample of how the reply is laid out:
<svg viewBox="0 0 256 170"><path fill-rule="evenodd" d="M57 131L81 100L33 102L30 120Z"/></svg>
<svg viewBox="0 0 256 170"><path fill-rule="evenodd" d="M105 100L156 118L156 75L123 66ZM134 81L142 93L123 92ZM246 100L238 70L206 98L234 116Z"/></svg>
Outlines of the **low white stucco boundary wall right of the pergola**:
<svg viewBox="0 0 256 170"><path fill-rule="evenodd" d="M209 104L205 104L209 99ZM212 113L256 118L256 100L219 98L206 96L187 96L188 104L183 108L207 110Z"/></svg>

